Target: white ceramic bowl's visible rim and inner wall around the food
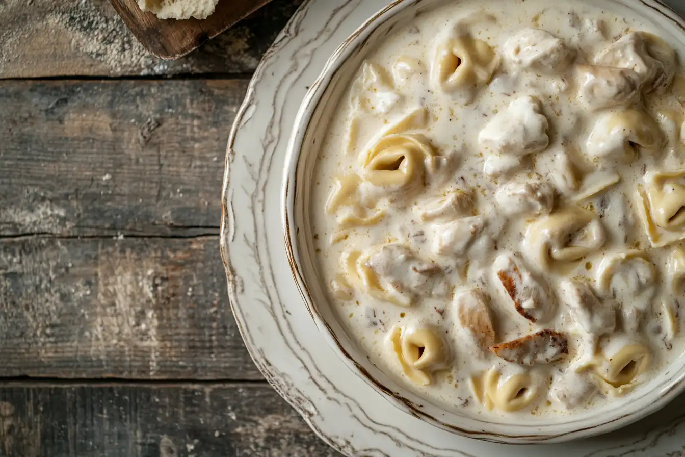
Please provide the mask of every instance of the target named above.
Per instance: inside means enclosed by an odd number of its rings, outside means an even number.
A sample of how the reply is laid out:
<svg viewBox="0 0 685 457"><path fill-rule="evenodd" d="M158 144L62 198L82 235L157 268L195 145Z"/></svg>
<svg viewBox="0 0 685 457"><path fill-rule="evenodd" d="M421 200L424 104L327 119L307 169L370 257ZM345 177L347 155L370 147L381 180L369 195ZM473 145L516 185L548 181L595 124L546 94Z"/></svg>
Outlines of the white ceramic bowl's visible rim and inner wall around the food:
<svg viewBox="0 0 685 457"><path fill-rule="evenodd" d="M340 95L375 43L417 14L436 8L443 1L398 0L369 18L329 58L302 103L288 145L282 188L286 251L299 291L317 327L350 369L399 409L440 428L501 443L553 443L623 427L662 408L684 390L684 356L633 393L615 399L603 408L574 415L544 418L517 415L514 421L449 410L445 405L436 404L403 387L394 375L388 375L375 366L347 334L344 325L338 322L323 290L323 281L315 267L309 223L310 177L316 162L316 144L323 143L331 110L337 106ZM655 0L596 0L593 4L606 5L609 10L623 12L627 16L637 14L642 21L660 30L662 38L675 47L681 62L685 61L685 21L666 5Z"/></svg>

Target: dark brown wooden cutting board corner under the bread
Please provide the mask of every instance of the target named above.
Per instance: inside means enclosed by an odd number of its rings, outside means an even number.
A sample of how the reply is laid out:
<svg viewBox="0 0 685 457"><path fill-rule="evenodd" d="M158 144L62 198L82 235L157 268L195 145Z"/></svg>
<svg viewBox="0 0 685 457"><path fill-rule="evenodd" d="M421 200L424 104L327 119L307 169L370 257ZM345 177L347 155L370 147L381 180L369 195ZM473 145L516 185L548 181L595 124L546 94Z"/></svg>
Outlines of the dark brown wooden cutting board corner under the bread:
<svg viewBox="0 0 685 457"><path fill-rule="evenodd" d="M110 0L145 49L162 59L186 55L269 1L220 0L214 14L206 19L177 21L140 11L136 0Z"/></svg>

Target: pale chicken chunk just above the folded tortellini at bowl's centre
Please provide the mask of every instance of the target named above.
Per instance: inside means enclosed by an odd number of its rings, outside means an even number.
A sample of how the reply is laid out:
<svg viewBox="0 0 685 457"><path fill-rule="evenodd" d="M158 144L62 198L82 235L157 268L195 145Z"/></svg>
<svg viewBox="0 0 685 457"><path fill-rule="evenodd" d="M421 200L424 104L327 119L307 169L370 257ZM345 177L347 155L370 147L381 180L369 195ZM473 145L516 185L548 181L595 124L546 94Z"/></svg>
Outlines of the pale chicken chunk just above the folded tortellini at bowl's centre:
<svg viewBox="0 0 685 457"><path fill-rule="evenodd" d="M497 189L495 201L504 214L549 214L554 191L540 180L512 181Z"/></svg>

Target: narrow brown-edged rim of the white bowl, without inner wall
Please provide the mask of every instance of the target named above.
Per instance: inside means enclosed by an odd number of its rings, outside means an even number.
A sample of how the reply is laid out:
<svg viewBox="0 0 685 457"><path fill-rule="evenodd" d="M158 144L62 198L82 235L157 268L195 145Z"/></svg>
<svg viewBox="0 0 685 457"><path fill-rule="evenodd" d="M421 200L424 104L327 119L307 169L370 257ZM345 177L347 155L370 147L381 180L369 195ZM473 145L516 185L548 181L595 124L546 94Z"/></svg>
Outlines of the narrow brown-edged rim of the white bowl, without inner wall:
<svg viewBox="0 0 685 457"><path fill-rule="evenodd" d="M291 230L292 221L295 221L295 195L297 187L297 169L299 167L299 158L301 155L301 150L303 149L303 143L307 136L308 130L312 123L314 112L319 106L319 103L323 96L326 94L329 83L332 82L336 73L340 71L347 62L347 59L353 55L358 49L361 49L369 39L371 34L375 30L382 26L388 19L396 16L406 8L410 8L418 3L422 3L424 0L394 0L382 10L379 10L373 16L366 19L360 27L358 27L350 36L345 38L345 40L338 46L338 48L332 53L325 63L323 70L316 78L314 83L310 86L306 92L305 97L299 107L297 116L295 116L295 121L293 123L293 129L290 134L290 139L288 140L286 157L285 157L285 169L282 179L281 188L281 219L282 219L282 230L284 234L284 247L286 249L286 256L288 258L288 264L290 266L290 271L293 278L295 279L295 284L297 289L307 307L307 310L319 329L319 332L323 335L327 341L329 347L331 347L340 360L343 360L345 365L353 373L358 375L359 378L364 380L366 384L369 384L377 393L382 395L390 404L393 404L399 410L403 410L408 414L417 417L427 423L437 426L443 430L449 432L457 433L462 436L466 436L473 439L480 439L485 441L493 441L496 443L506 443L506 444L530 444L530 443L560 443L563 441L570 441L573 439L588 438L590 436L596 436L599 434L612 432L619 428L629 425L647 415L651 415L653 412L660 410L671 402L677 395L680 395L685 391L685 366L680 369L680 373L674 375L673 378L665 382L664 388L654 389L653 391L647 393L643 397L654 397L652 402L649 402L646 407L633 406L632 410L620 415L619 417L609 417L607 420L597 420L595 418L587 418L579 420L578 422L582 424L582 421L586 421L586 425L578 426L577 428L571 428L560 433L538 433L538 434L508 434L506 432L495 432L492 430L478 430L476 428L464 428L460 426L453 425L451 423L446 423L427 413L423 406L416 404L410 399L403 397L400 393L394 392L392 389L388 388L382 382L379 382L368 370L366 370L359 362L357 362L351 354L343 347L340 343L338 337L336 336L334 330L329 326L329 324L323 318L323 315L319 311L315 304L314 299L309 291L308 280L306 280L305 275L302 272L301 267L301 256L300 247L297 241L297 230ZM434 0L439 2L440 0ZM616 3L620 3L632 8L649 8L654 10L660 16L676 25L680 28L683 35L683 40L685 43L685 19L682 18L675 10L673 10L669 5L662 3L661 0L611 0ZM666 374L666 373L662 373ZM404 388L404 387L401 387ZM615 415L615 413L614 413ZM464 421L472 421L474 423L483 423L488 425L487 422L477 421L470 417L462 416ZM551 425L564 425L566 423L558 423ZM507 426L506 423L489 423L490 425ZM580 425L579 424L579 425ZM530 428L534 428L535 425L528 425Z"/></svg>

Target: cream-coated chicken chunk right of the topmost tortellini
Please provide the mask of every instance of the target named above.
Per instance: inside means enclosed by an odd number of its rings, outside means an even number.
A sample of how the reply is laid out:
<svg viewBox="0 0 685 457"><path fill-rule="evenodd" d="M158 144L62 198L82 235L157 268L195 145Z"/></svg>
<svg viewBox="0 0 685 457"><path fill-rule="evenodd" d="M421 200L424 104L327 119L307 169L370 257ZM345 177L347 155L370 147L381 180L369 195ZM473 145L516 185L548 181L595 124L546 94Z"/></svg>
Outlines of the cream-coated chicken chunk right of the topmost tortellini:
<svg viewBox="0 0 685 457"><path fill-rule="evenodd" d="M503 57L515 69L558 75L573 60L564 42L543 29L522 29L502 47Z"/></svg>

